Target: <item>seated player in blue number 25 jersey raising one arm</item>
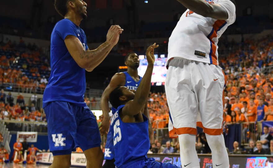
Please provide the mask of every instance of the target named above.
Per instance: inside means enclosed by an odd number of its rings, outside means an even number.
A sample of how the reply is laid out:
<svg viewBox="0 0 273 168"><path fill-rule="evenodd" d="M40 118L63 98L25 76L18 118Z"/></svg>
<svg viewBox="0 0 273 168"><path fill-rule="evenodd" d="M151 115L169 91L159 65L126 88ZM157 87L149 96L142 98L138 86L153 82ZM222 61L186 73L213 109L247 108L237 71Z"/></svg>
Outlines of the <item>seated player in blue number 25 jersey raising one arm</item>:
<svg viewBox="0 0 273 168"><path fill-rule="evenodd" d="M110 103L117 112L111 119L110 129L114 138L115 165L119 168L177 167L171 163L159 163L147 158L150 148L148 116L141 110L149 96L154 68L155 43L146 52L148 66L134 93L126 86L118 86L109 95Z"/></svg>

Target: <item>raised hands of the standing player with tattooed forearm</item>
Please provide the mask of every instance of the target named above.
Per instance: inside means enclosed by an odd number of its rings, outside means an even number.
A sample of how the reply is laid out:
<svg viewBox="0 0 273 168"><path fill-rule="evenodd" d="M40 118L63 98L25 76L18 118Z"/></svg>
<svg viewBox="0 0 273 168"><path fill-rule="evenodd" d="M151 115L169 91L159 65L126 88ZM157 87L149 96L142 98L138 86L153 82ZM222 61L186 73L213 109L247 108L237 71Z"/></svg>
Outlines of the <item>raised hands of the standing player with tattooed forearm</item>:
<svg viewBox="0 0 273 168"><path fill-rule="evenodd" d="M121 29L119 25L112 25L106 35L106 42L111 46L116 45L119 41L119 34L121 34L122 31L123 29Z"/></svg>

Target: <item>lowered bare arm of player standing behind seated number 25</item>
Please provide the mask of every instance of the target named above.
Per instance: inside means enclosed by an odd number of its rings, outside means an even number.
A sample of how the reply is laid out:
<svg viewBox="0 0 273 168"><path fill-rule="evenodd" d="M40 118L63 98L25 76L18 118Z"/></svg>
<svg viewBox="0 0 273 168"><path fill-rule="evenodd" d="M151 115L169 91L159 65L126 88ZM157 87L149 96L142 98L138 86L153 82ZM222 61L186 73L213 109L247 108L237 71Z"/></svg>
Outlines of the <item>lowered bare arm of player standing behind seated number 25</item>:
<svg viewBox="0 0 273 168"><path fill-rule="evenodd" d="M101 136L104 134L107 134L109 126L110 126L110 117L109 117L109 95L110 93L118 86L123 86L125 83L125 75L123 73L116 73L109 85L104 90L102 96L101 96L101 110L103 114L103 120L101 122L101 125L99 127Z"/></svg>

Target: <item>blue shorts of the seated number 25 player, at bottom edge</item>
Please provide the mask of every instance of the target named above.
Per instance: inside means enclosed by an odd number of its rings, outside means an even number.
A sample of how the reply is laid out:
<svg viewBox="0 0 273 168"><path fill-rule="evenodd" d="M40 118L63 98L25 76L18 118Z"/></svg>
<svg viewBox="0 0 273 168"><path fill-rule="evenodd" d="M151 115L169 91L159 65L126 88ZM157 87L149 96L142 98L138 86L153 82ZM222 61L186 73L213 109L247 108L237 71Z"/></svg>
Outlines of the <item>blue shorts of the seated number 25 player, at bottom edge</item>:
<svg viewBox="0 0 273 168"><path fill-rule="evenodd" d="M121 165L118 168L181 168L171 163L160 163L154 160L154 158L148 158L145 160L138 160L128 162L125 165Z"/></svg>

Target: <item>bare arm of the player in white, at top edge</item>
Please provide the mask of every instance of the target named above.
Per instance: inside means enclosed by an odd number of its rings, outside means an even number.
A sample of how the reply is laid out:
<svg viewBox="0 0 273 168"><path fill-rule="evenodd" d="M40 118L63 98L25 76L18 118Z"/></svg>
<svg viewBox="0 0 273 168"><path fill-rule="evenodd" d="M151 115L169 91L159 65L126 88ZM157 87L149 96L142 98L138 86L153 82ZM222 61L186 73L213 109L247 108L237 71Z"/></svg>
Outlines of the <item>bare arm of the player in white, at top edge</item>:
<svg viewBox="0 0 273 168"><path fill-rule="evenodd" d="M203 0L177 0L189 10L202 15L204 17L211 17L218 20L227 20L227 11L218 4L207 3Z"/></svg>

